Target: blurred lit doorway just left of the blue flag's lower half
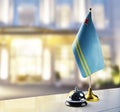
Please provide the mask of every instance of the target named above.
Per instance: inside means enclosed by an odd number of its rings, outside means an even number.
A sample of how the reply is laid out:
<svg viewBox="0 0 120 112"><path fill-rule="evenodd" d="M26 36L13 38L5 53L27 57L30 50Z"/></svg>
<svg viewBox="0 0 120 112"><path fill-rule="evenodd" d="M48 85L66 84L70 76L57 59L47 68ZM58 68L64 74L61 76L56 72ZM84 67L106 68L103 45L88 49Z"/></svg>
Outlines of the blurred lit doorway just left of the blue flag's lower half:
<svg viewBox="0 0 120 112"><path fill-rule="evenodd" d="M55 51L56 81L60 81L63 84L74 83L76 75L71 46L59 46Z"/></svg>

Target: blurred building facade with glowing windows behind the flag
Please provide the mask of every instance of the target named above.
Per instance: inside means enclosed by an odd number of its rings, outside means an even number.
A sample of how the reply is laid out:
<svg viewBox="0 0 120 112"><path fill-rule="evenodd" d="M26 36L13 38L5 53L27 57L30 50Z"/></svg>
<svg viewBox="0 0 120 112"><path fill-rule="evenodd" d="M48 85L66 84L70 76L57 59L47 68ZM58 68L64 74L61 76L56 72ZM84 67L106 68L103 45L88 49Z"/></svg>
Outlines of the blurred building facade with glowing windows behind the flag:
<svg viewBox="0 0 120 112"><path fill-rule="evenodd" d="M1 86L35 84L64 91L77 85L87 90L89 80L82 78L71 45L92 7L105 62L105 68L92 75L92 86L120 87L119 4L116 0L0 0Z"/></svg>

